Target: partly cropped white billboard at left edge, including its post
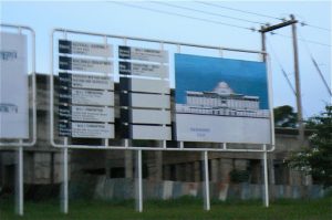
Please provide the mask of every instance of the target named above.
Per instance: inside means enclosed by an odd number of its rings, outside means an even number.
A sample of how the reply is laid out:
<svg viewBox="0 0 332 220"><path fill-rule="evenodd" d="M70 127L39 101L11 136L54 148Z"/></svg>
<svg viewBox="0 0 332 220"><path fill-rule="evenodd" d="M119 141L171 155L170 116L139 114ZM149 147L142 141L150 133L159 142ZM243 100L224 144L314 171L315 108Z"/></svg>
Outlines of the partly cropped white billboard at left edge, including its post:
<svg viewBox="0 0 332 220"><path fill-rule="evenodd" d="M37 142L35 35L29 27L0 27L0 149L18 150L15 212L23 216L23 147Z"/></svg>

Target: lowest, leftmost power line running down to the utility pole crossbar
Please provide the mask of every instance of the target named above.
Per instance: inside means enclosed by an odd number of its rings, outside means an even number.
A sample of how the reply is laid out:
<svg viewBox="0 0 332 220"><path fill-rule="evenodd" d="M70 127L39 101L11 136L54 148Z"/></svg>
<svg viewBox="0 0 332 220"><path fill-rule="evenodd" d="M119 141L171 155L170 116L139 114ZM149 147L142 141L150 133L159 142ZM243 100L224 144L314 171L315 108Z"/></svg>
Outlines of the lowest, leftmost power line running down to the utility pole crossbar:
<svg viewBox="0 0 332 220"><path fill-rule="evenodd" d="M134 6L134 4L124 3L124 2L117 2L117 1L116 2L115 1L107 1L107 2L108 3L124 6L124 7L129 7L129 8L135 8L135 9L142 9L142 10L146 10L146 11L152 11L152 12L156 12L156 13L163 13L163 14L168 14L168 15L176 15L176 17L181 17L181 18L186 18L186 19L191 19L191 20L208 22L208 23L215 23L215 24L227 25L227 27L242 29L242 30L255 31L255 29L252 29L252 28L247 28L247 27L241 27L241 25L236 25L236 24L219 22L219 21L215 21L215 20L210 20L210 19L201 19L201 18L197 18L197 17L185 15L185 14L180 14L180 13L176 13L176 12L169 12L169 11L164 11L164 10L159 10L159 9L152 9L152 8L146 8L146 7L142 7L142 6Z"/></svg>

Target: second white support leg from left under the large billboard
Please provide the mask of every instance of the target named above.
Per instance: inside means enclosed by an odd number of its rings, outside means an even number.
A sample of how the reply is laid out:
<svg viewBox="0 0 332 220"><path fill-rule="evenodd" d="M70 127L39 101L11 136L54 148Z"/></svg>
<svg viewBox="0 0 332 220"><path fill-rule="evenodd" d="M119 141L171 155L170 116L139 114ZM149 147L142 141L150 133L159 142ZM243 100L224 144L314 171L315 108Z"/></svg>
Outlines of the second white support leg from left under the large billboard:
<svg viewBox="0 0 332 220"><path fill-rule="evenodd" d="M136 155L136 211L143 211L142 150Z"/></svg>

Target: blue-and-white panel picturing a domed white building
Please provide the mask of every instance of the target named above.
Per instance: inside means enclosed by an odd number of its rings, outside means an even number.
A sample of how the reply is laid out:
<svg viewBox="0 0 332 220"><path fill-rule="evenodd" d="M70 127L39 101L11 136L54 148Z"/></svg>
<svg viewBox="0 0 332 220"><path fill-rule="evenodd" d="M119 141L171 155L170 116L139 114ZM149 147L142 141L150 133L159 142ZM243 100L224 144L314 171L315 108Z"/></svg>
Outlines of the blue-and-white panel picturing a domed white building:
<svg viewBox="0 0 332 220"><path fill-rule="evenodd" d="M270 144L262 62L175 54L176 139Z"/></svg>

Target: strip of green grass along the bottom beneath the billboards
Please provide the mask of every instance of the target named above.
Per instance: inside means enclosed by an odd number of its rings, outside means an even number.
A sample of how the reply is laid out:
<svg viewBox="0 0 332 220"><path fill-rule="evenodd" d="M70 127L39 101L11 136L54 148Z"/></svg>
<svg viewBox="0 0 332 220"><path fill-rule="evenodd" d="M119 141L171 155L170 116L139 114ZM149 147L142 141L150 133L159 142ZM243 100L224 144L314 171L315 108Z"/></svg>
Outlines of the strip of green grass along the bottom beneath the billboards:
<svg viewBox="0 0 332 220"><path fill-rule="evenodd" d="M135 202L126 201L71 201L70 213L60 212L59 201L31 202L24 205L24 217L13 213L12 200L0 200L0 219L276 219L276 220L331 220L332 197L315 200L277 200L270 208L258 200L211 201L211 211L203 210L203 201L195 198L176 200L149 200L144 202L144 212L134 210Z"/></svg>

